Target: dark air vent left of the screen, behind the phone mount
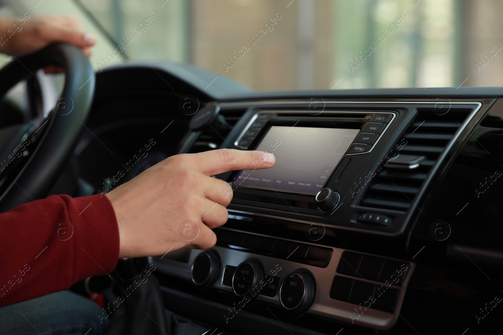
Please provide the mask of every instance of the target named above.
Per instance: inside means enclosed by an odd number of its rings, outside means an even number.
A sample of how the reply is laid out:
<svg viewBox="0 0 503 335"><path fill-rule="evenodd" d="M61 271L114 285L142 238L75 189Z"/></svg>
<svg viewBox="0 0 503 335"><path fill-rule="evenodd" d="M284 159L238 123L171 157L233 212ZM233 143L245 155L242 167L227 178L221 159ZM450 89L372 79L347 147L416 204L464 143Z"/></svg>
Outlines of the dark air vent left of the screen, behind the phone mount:
<svg viewBox="0 0 503 335"><path fill-rule="evenodd" d="M234 127L245 111L245 108L220 109L219 117L223 117L230 128L227 130L215 130L214 128L207 127L205 130L200 132L197 139L193 140L192 145L187 150L187 153L192 154L218 148L224 141L224 138L227 136L230 129Z"/></svg>

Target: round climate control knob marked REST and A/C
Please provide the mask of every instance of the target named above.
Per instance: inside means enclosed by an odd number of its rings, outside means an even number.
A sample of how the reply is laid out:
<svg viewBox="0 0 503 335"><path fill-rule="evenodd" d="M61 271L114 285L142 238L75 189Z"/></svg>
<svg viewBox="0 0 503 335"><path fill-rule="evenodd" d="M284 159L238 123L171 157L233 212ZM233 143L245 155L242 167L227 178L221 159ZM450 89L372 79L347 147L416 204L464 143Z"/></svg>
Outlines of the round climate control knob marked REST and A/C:
<svg viewBox="0 0 503 335"><path fill-rule="evenodd" d="M296 270L286 276L281 283L281 305L293 316L304 314L313 304L315 295L316 283L308 270Z"/></svg>

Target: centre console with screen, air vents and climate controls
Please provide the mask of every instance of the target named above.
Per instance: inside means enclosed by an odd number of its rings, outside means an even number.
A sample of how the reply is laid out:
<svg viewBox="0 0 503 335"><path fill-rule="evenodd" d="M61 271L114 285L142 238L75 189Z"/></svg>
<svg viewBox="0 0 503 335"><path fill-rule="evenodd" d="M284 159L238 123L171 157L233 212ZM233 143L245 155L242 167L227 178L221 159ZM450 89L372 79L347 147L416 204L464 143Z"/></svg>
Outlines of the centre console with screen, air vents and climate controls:
<svg viewBox="0 0 503 335"><path fill-rule="evenodd" d="M311 101L208 105L195 114L181 153L194 152L203 140L213 143L207 140L213 136L220 141L210 149L260 150L276 164L261 169L257 160L247 170L215 176L232 186L233 198L227 224L214 230L214 248L150 261L200 291L233 295L224 322L254 301L294 317L389 329L415 268L406 232L480 106L324 101L319 111Z"/></svg>

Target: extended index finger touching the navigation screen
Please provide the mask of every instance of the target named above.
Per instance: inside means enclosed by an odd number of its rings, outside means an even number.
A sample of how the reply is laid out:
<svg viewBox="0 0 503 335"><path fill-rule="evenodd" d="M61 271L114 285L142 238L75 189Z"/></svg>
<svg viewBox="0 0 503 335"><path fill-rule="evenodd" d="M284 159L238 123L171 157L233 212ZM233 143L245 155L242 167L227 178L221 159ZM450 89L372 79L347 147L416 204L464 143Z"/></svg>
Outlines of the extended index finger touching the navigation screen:
<svg viewBox="0 0 503 335"><path fill-rule="evenodd" d="M189 155L207 176L233 170L267 169L276 162L273 154L257 150L218 149Z"/></svg>

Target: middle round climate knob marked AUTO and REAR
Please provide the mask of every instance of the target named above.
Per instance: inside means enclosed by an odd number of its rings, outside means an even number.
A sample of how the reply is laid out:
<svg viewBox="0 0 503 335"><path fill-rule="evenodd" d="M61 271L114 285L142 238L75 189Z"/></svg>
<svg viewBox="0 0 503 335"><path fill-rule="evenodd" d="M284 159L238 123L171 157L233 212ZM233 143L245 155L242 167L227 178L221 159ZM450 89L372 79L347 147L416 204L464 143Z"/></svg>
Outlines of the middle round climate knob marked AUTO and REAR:
<svg viewBox="0 0 503 335"><path fill-rule="evenodd" d="M261 282L264 281L264 267L258 261L242 262L234 271L232 289L237 296L248 295L255 298L262 290Z"/></svg>

